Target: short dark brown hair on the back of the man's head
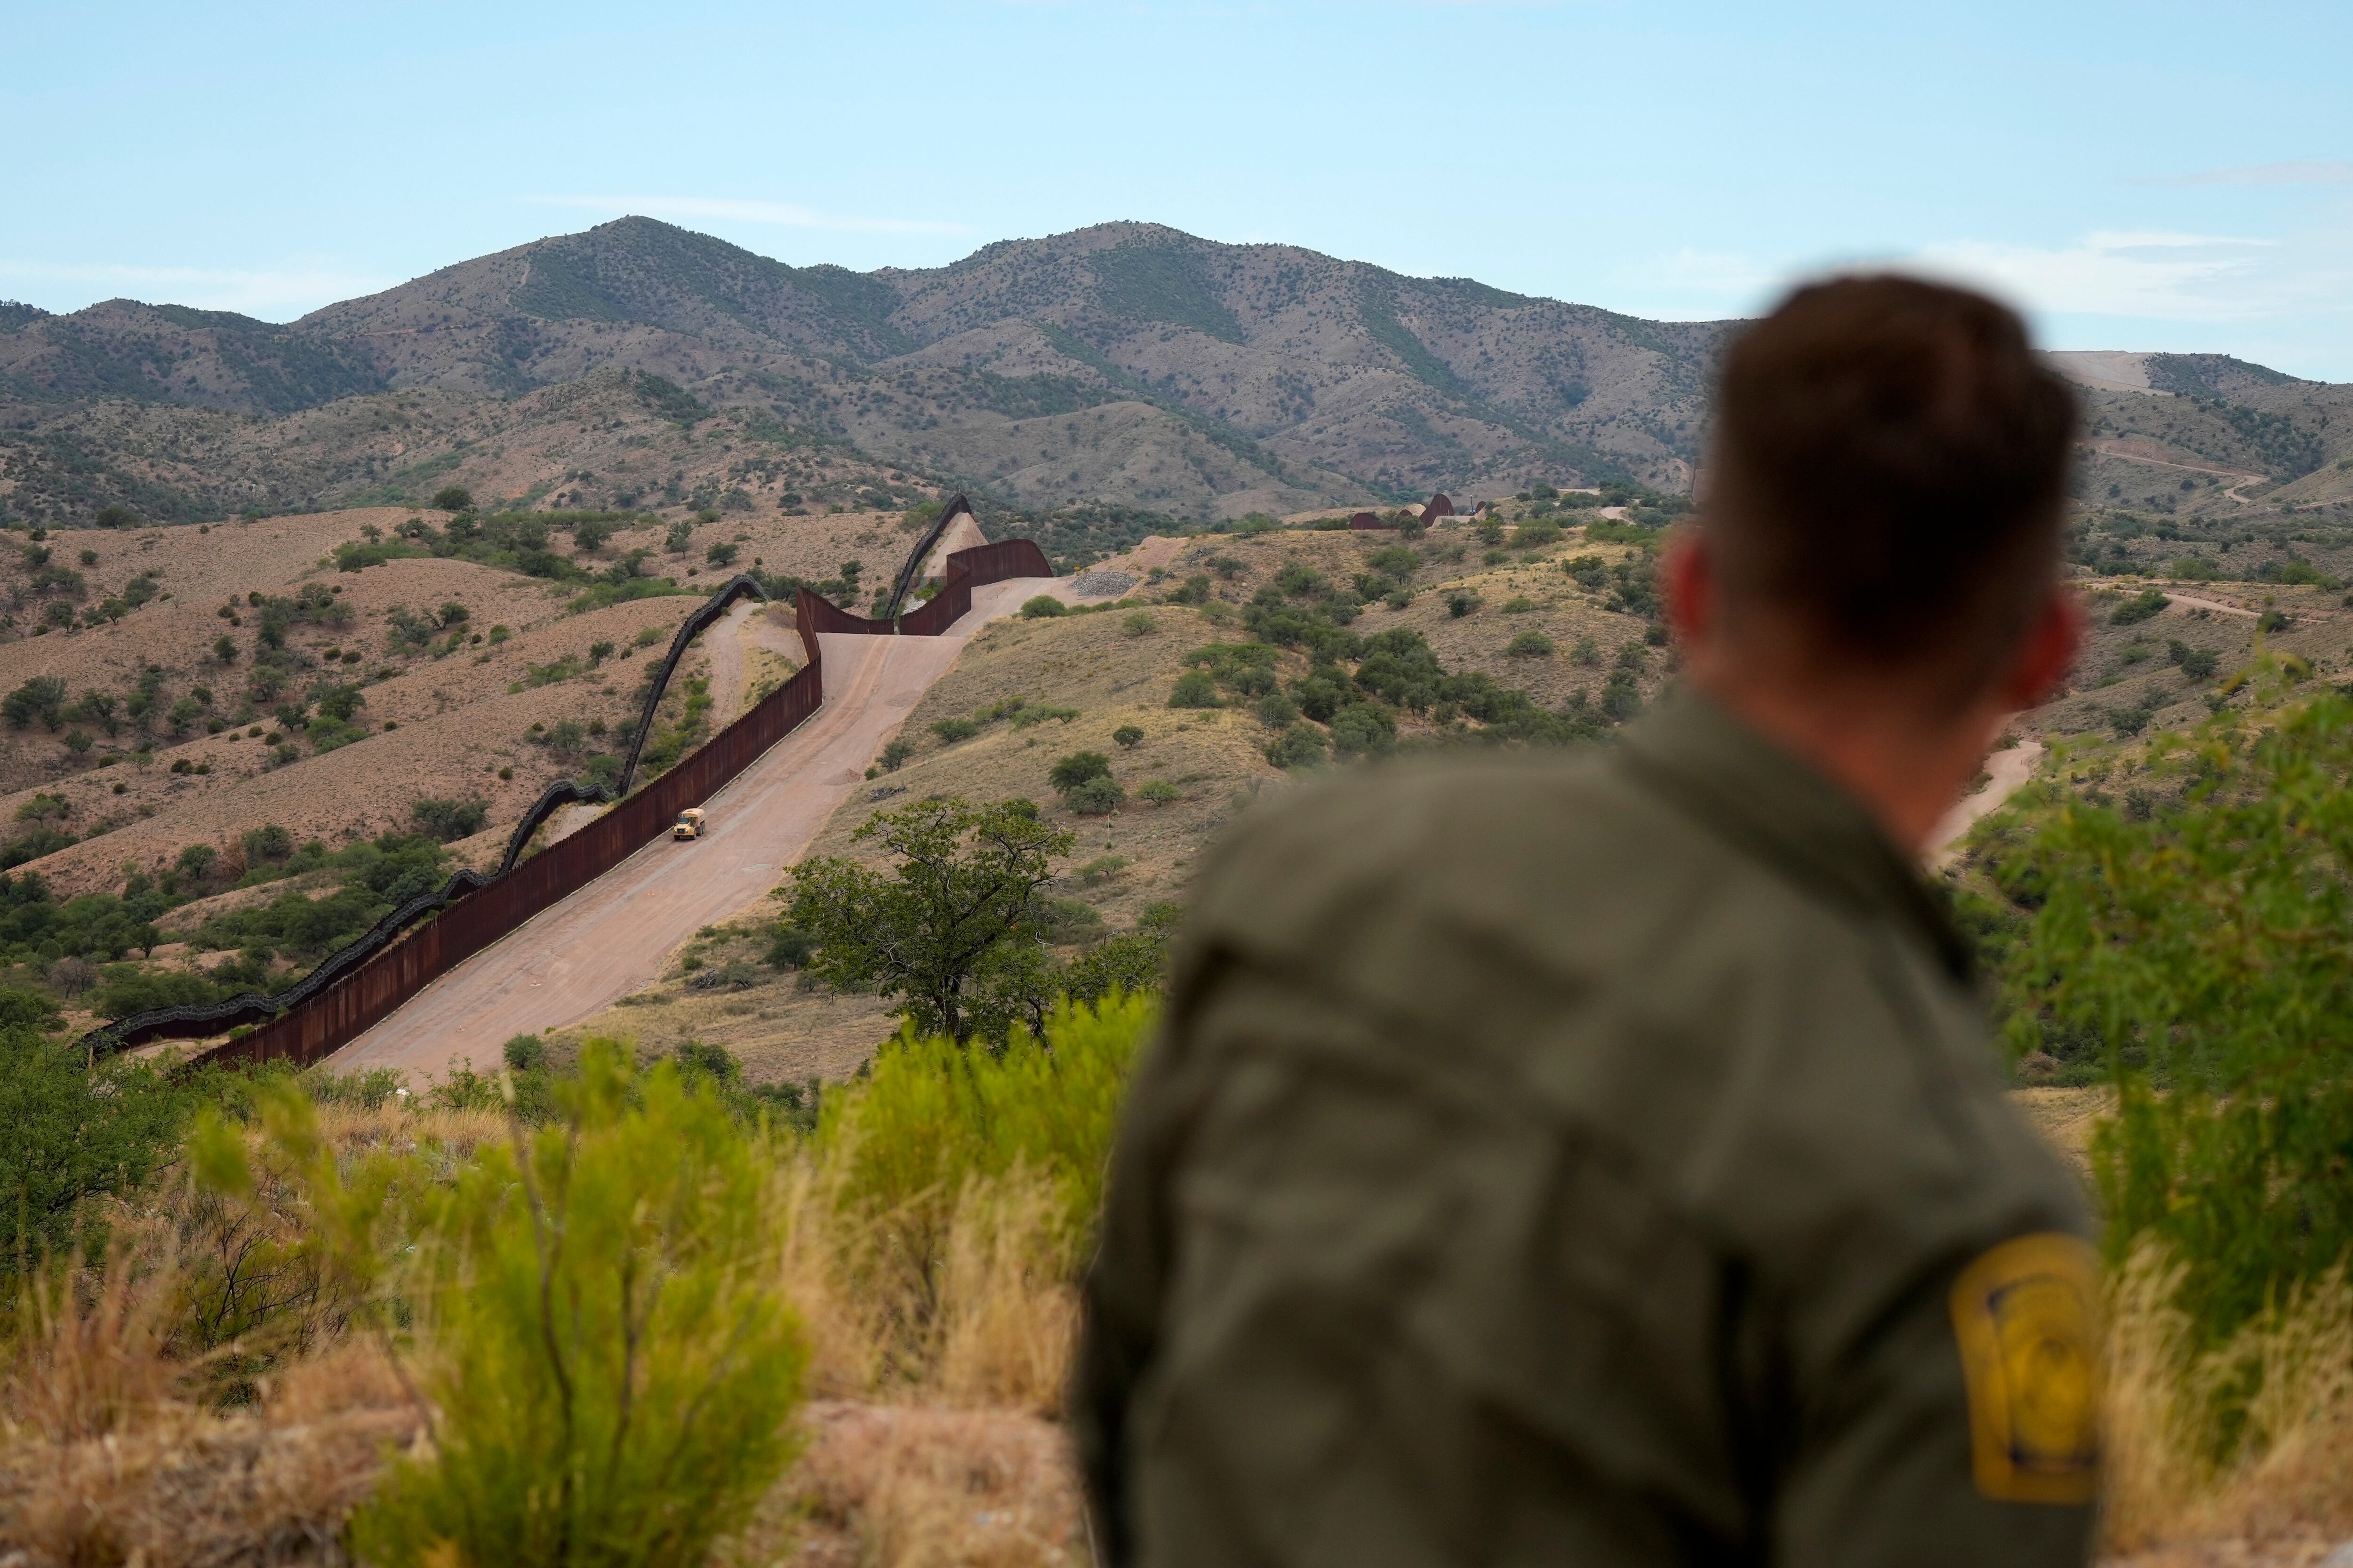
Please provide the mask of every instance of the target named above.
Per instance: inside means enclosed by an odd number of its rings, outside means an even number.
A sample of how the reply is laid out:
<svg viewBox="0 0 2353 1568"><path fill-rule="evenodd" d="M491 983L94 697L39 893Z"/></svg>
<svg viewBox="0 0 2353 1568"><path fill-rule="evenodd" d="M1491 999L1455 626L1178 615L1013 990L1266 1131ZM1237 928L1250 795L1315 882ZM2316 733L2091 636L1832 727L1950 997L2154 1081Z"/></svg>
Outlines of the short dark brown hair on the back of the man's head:
<svg viewBox="0 0 2353 1568"><path fill-rule="evenodd" d="M2073 440L2073 393L1991 299L1798 289L1725 355L1704 527L1727 618L1974 691L2057 574Z"/></svg>

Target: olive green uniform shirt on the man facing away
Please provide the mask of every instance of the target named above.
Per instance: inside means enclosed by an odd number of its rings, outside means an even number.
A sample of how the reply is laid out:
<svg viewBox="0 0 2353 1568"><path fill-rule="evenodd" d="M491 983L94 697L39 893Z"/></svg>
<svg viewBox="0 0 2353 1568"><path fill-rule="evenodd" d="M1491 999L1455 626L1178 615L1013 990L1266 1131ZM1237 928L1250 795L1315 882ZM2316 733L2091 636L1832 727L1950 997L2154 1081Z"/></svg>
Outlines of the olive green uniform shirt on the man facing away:
<svg viewBox="0 0 2353 1568"><path fill-rule="evenodd" d="M2092 1399L2000 1244L2085 1227L1915 870L1720 708L1301 790L1200 879L1113 1159L1106 1556L2080 1563Z"/></svg>

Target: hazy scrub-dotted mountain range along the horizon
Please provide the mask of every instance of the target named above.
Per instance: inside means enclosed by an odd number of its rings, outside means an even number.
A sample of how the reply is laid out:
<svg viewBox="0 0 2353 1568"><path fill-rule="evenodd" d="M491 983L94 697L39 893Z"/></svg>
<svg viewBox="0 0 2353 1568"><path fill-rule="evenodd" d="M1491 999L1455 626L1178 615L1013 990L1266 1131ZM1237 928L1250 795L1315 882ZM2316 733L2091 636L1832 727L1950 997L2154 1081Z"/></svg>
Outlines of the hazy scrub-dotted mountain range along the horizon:
<svg viewBox="0 0 2353 1568"><path fill-rule="evenodd" d="M1153 223L852 273L631 216L289 324L134 301L0 306L0 505L66 522L108 501L162 520L421 501L431 480L515 442L548 454L541 494L612 503L642 482L555 440L569 423L595 435L555 393L609 400L616 376L656 402L675 388L734 411L746 440L824 447L838 484L958 484L1026 510L1207 520L1539 480L1687 491L1732 327ZM2217 357L2080 360L2101 362L2071 371L2094 402L2162 390L2289 425L2299 416L2273 404L2315 388ZM322 418L391 423L386 409L405 440L365 463L322 447ZM2318 465L2334 449L2318 435L2329 409L2301 418L2301 437L2257 433L2275 449L2264 473ZM2231 435L2228 418L2207 423ZM2249 433L2226 461L2264 456ZM238 473L205 451L235 451ZM671 463L673 491L687 468Z"/></svg>

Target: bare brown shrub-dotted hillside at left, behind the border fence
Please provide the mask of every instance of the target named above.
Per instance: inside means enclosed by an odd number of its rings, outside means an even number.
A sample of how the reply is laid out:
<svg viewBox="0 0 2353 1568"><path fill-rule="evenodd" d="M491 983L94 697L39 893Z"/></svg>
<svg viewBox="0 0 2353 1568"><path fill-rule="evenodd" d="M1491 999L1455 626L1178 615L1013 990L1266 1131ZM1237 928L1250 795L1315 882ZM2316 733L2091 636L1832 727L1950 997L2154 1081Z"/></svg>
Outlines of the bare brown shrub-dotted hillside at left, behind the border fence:
<svg viewBox="0 0 2353 1568"><path fill-rule="evenodd" d="M155 870L188 844L228 853L242 832L264 825L327 844L407 830L419 797L480 799L492 825L511 827L541 788L586 762L586 752L546 745L555 724L600 726L591 750L619 745L635 726L645 670L706 585L751 564L835 578L856 559L887 576L908 548L896 517L871 512L722 517L696 527L685 552L666 550L666 529L638 527L616 534L595 559L558 534L555 550L581 564L654 550L645 571L661 571L685 590L579 614L569 609L576 585L464 559L391 559L362 571L332 564L336 545L365 541L369 527L398 529L409 515L409 508L374 508L205 531L54 534L52 559L80 571L89 597L118 592L134 576L160 592L104 628L0 635L0 693L52 677L66 684L68 712L89 693L113 698L118 712L115 733L71 717L56 729L42 722L0 729L0 832L35 795L49 795L66 804L59 825L80 839L31 870L61 896L111 891L127 867ZM732 545L734 562L711 564L713 545ZM80 550L99 562L82 567ZM16 571L26 569L0 564L0 590ZM367 738L327 752L285 733L275 703L247 691L256 651L249 595L294 597L304 588L329 590L339 625L292 628L292 693L351 682L362 696L355 724ZM393 635L400 616L442 616L447 604L466 609L464 623L452 625L466 632L459 646L447 646L445 635L431 646ZM214 649L221 637L226 658ZM685 677L711 672L713 639L704 642ZM598 644L612 649L595 658ZM784 668L774 654L739 654L732 642L722 654L720 722ZM144 675L160 691L158 717L141 726L120 715ZM160 717L184 698L200 703L193 722L176 726ZM85 752L68 745L78 731L92 741ZM280 745L292 745L292 757ZM499 778L499 769L511 776Z"/></svg>

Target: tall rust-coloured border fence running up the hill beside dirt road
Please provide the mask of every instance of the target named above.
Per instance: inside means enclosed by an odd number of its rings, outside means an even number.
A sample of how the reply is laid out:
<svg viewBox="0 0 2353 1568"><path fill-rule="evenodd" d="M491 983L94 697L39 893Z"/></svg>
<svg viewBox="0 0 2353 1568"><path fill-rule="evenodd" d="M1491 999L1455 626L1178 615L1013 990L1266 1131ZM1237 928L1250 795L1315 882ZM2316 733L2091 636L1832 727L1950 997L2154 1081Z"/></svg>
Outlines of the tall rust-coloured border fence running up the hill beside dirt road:
<svg viewBox="0 0 2353 1568"><path fill-rule="evenodd" d="M976 585L1002 583L1016 576L1054 576L1045 552L1028 538L958 550L948 557L946 585L929 604L901 616L896 625L852 616L802 588L795 595L793 621L809 663L793 679L755 703L751 712L715 733L675 769L626 797L598 820L551 844L529 860L508 865L405 936L384 933L374 952L367 952L358 961L346 959L327 985L252 1034L200 1053L191 1065L266 1060L311 1065L325 1060L391 1018L440 976L628 860L668 832L680 811L711 799L767 752L767 748L807 722L824 705L826 696L819 632L936 637L972 609L972 590ZM369 938L362 938L353 947L365 947L367 943ZM334 954L329 964L346 954ZM188 1027L181 1037L193 1032L198 1030ZM172 1034L174 1030L158 1027L144 1032L144 1039L167 1039ZM92 1041L96 1044L96 1037ZM113 1048L122 1041L106 1044Z"/></svg>

